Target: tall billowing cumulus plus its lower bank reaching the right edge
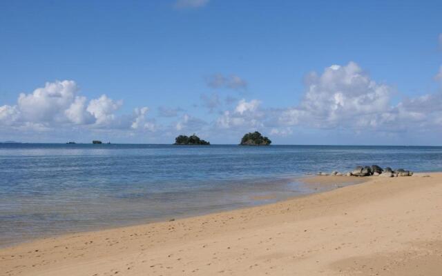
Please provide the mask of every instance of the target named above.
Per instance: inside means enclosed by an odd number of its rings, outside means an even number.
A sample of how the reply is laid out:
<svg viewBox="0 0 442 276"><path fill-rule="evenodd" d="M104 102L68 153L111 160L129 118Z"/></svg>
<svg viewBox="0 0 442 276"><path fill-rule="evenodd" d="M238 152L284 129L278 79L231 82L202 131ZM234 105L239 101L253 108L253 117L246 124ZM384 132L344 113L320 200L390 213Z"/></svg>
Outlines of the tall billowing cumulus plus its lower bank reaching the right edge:
<svg viewBox="0 0 442 276"><path fill-rule="evenodd" d="M306 78L298 106L278 116L278 126L361 131L434 131L442 122L442 94L405 98L392 104L392 88L376 83L361 67L330 66Z"/></svg>

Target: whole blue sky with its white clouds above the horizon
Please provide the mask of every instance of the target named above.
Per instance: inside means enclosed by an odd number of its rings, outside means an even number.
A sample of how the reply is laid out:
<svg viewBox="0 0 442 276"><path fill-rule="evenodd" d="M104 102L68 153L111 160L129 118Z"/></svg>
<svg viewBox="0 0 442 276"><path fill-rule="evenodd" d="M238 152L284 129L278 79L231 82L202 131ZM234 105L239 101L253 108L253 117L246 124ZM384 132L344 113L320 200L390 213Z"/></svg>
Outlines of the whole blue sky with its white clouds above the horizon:
<svg viewBox="0 0 442 276"><path fill-rule="evenodd" d="M440 1L295 2L1 1L0 141L441 145Z"/></svg>

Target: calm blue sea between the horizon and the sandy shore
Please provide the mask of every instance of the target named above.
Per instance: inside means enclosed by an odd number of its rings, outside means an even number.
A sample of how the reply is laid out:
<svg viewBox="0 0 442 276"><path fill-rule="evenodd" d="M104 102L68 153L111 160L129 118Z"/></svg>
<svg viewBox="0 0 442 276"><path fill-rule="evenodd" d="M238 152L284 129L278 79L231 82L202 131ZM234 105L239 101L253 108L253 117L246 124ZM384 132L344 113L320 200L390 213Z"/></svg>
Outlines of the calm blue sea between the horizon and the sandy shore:
<svg viewBox="0 0 442 276"><path fill-rule="evenodd" d="M0 144L0 246L314 193L296 177L372 164L441 171L442 147Z"/></svg>

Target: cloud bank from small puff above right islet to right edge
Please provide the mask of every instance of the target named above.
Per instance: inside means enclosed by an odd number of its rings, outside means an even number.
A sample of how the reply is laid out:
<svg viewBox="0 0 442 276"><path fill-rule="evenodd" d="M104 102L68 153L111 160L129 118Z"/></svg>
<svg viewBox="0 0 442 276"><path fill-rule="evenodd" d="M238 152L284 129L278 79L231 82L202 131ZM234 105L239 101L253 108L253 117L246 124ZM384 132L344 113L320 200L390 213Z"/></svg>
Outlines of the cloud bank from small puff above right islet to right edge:
<svg viewBox="0 0 442 276"><path fill-rule="evenodd" d="M333 65L305 78L300 103L261 108L260 101L238 101L216 121L222 129L259 128L271 135L291 135L294 127L354 132L432 130L441 126L442 93L405 98L392 104L394 91L377 83L358 64Z"/></svg>

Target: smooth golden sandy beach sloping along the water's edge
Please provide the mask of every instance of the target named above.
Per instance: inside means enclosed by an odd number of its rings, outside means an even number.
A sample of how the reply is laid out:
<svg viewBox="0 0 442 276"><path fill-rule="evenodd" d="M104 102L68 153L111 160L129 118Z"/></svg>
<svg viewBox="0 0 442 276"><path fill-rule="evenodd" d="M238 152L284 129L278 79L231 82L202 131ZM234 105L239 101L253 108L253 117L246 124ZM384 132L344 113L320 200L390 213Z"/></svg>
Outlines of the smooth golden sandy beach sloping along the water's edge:
<svg viewBox="0 0 442 276"><path fill-rule="evenodd" d="M442 173L424 175L39 239L0 249L0 275L442 275Z"/></svg>

